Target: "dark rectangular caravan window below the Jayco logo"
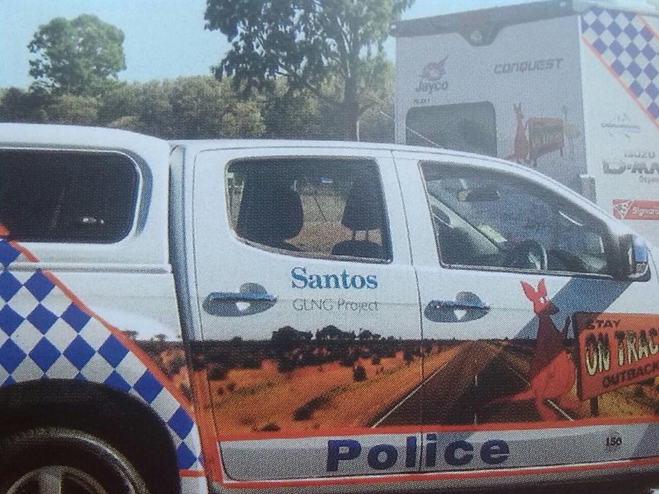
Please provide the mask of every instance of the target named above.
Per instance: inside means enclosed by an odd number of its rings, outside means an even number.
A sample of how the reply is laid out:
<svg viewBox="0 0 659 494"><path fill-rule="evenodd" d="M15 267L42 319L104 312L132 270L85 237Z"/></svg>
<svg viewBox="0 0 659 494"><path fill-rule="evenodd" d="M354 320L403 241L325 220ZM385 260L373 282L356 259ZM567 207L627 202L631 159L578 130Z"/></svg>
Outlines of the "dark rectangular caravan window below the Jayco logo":
<svg viewBox="0 0 659 494"><path fill-rule="evenodd" d="M496 117L490 102L412 108L406 143L496 156Z"/></svg>

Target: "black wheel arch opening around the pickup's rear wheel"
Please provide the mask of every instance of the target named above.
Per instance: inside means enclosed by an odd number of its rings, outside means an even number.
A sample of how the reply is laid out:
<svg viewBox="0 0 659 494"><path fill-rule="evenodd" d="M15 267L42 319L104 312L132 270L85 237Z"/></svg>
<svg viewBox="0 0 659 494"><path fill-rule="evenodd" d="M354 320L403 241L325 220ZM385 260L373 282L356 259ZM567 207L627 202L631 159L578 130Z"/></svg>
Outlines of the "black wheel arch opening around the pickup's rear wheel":
<svg viewBox="0 0 659 494"><path fill-rule="evenodd" d="M181 492L176 449L163 420L128 393L90 381L41 379L0 389L0 438L67 427L121 451L152 493Z"/></svg>

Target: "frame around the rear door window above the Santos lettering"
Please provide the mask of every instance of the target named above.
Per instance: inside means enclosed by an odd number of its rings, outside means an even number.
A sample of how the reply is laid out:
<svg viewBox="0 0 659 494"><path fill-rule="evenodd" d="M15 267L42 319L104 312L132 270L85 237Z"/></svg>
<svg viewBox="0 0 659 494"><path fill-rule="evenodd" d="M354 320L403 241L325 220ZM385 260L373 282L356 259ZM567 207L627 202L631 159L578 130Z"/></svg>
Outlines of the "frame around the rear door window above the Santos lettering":
<svg viewBox="0 0 659 494"><path fill-rule="evenodd" d="M324 254L323 252L304 252L304 251L295 251L295 250L286 250L284 248L268 246L266 244L260 244L250 239L246 239L238 235L238 232L235 231L233 222L231 221L231 211L229 209L229 189L227 187L228 178L229 178L229 167L234 163L258 163L262 162L262 166L268 166L268 162L272 161L288 161L288 162L304 162L309 160L323 160L325 162L345 162L345 163L365 163L375 167L375 178L378 180L378 186L380 187L380 198L382 199L382 208L384 215L384 224L382 228L382 248L384 249L384 255L386 259L375 259L371 257L356 257L356 256L347 256L347 255L334 255L334 254ZM380 168L380 163L378 163L378 158L368 157L368 156L336 156L336 155L323 155L323 154L308 154L308 155L297 155L297 154L273 154L270 156L241 156L239 158L233 158L224 165L224 183L222 184L224 188L224 219L229 226L229 231L233 237L238 240L238 242L255 248L257 250L262 250L264 252L270 252L278 255L286 255L290 257L297 257L301 259L322 259L327 261L348 261L355 263L365 263L365 264L391 264L394 262L393 258L393 244L391 241L391 226L389 218L389 209L386 204L386 194L384 193L384 182L382 180L382 169Z"/></svg>

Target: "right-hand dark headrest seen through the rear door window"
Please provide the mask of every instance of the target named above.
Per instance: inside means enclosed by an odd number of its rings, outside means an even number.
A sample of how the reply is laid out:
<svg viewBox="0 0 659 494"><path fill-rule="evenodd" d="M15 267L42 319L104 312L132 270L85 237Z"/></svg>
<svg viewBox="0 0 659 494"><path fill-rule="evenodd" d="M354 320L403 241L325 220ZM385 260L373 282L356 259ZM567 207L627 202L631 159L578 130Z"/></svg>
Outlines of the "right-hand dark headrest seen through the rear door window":
<svg viewBox="0 0 659 494"><path fill-rule="evenodd" d="M341 224L353 231L378 230L382 228L382 209L378 183L356 180L345 201Z"/></svg>

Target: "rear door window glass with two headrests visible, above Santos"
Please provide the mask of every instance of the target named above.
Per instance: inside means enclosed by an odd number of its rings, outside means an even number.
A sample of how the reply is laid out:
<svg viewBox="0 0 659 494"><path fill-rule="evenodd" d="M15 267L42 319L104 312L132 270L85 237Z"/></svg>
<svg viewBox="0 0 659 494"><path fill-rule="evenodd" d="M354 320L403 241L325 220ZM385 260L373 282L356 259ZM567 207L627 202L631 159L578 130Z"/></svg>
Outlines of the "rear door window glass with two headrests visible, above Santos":
<svg viewBox="0 0 659 494"><path fill-rule="evenodd" d="M375 163L233 161L226 187L231 228L248 242L312 257L391 257Z"/></svg>

